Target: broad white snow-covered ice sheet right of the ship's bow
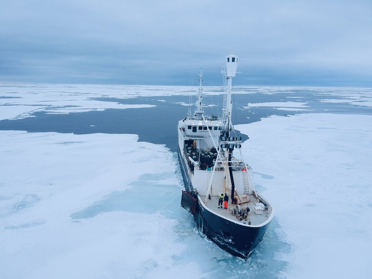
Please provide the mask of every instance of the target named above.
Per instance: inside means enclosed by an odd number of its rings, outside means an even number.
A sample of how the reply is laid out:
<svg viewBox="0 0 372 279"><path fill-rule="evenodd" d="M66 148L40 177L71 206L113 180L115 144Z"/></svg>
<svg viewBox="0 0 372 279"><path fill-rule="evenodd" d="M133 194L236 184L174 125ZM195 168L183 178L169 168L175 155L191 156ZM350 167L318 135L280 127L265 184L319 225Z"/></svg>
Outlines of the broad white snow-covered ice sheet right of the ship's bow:
<svg viewBox="0 0 372 279"><path fill-rule="evenodd" d="M285 278L370 278L372 116L301 114L238 125L257 188L276 208Z"/></svg>

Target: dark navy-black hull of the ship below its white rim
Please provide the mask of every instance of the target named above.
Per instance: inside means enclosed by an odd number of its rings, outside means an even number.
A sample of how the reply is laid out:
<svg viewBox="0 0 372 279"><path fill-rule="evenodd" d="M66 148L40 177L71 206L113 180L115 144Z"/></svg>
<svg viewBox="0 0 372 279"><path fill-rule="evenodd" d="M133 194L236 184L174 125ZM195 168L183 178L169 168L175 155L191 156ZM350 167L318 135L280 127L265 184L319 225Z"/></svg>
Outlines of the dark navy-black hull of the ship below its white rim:
<svg viewBox="0 0 372 279"><path fill-rule="evenodd" d="M187 166L181 156L180 148L178 148L183 181L185 182L186 190L192 191L193 186L187 173ZM183 198L185 197L184 195L187 194L183 194ZM184 202L182 201L182 203ZM245 260L248 259L257 244L260 243L270 224L270 222L267 222L262 226L247 226L234 222L206 208L199 197L196 205L196 210L193 210L193 212L189 210L189 212L194 216L199 233L205 234L210 240L230 254Z"/></svg>

